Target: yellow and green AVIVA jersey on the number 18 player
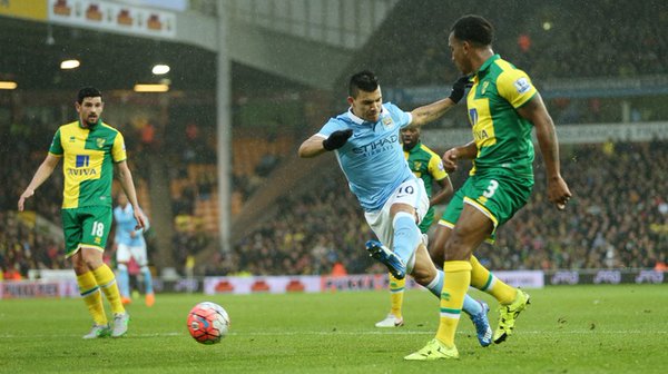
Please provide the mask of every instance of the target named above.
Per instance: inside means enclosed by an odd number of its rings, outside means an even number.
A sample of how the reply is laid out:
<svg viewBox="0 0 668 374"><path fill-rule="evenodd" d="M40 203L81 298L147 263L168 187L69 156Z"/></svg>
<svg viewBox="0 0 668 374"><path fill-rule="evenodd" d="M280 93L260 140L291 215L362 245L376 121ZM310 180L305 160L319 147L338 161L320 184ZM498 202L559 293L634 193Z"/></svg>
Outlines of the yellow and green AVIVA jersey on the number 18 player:
<svg viewBox="0 0 668 374"><path fill-rule="evenodd" d="M120 131L101 120L90 129L81 127L79 121L62 125L53 136L49 154L63 158L63 209L111 206L114 163L127 158Z"/></svg>

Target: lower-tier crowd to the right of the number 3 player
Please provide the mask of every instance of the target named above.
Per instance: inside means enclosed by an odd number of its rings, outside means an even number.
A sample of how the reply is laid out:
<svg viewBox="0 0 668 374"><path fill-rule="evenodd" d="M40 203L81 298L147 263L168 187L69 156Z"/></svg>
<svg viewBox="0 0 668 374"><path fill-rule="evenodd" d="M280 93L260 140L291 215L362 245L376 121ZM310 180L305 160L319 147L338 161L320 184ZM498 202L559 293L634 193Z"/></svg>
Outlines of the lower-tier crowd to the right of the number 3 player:
<svg viewBox="0 0 668 374"><path fill-rule="evenodd" d="M531 203L480 255L491 268L654 268L668 255L668 142L608 142L563 152L573 186L566 213L544 204L544 170ZM540 217L540 218L538 218Z"/></svg>

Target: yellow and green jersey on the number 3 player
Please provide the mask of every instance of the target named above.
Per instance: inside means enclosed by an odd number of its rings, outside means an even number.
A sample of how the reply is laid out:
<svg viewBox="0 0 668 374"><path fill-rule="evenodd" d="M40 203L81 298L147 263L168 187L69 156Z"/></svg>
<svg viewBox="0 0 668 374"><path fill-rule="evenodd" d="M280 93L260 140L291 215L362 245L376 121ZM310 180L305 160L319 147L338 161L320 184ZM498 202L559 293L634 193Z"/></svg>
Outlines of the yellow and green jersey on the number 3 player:
<svg viewBox="0 0 668 374"><path fill-rule="evenodd" d="M499 55L480 67L466 97L478 146L471 175L500 173L533 177L533 125L517 109L537 92L529 76Z"/></svg>

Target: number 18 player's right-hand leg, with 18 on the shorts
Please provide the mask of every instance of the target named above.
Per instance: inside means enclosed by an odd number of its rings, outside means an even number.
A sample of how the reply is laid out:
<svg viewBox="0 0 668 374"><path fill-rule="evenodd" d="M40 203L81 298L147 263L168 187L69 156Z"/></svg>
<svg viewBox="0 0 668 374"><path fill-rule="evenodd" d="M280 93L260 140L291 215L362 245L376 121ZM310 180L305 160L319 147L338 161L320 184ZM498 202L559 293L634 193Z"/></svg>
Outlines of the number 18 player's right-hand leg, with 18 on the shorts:
<svg viewBox="0 0 668 374"><path fill-rule="evenodd" d="M88 268L92 272L95 279L105 293L114 313L114 327L111 337L119 337L127 332L129 315L121 299L116 276L102 260L102 253L107 244L107 237L111 227L110 207L88 207L88 215L82 219L81 256Z"/></svg>

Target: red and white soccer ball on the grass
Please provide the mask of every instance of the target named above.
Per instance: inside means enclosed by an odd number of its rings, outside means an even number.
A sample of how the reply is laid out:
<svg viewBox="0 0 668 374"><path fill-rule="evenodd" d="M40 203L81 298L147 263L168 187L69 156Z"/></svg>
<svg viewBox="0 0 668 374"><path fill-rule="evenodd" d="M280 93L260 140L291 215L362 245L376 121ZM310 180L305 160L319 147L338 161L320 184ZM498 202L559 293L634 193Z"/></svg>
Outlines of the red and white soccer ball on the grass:
<svg viewBox="0 0 668 374"><path fill-rule="evenodd" d="M227 335L228 329L229 316L218 304L199 303L188 313L188 332L198 343L219 343Z"/></svg>

